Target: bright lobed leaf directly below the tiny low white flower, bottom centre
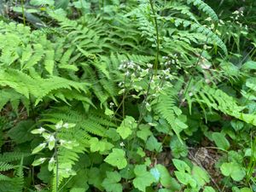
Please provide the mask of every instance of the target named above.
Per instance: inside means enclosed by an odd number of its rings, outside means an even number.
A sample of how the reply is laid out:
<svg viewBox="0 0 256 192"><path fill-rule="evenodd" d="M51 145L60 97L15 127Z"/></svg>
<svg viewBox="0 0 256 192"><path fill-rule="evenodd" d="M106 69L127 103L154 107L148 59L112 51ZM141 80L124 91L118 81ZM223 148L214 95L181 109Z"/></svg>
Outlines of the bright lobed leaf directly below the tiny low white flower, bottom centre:
<svg viewBox="0 0 256 192"><path fill-rule="evenodd" d="M105 161L112 166L117 166L119 169L123 169L127 166L125 151L120 148L113 148L112 153L108 154Z"/></svg>

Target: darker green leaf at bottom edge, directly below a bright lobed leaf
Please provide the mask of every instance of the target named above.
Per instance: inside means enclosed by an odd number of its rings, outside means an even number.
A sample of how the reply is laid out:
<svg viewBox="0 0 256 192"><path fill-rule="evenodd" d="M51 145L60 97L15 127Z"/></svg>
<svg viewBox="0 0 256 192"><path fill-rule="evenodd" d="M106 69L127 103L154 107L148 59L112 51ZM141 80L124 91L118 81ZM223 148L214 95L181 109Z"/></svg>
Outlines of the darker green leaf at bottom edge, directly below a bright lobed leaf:
<svg viewBox="0 0 256 192"><path fill-rule="evenodd" d="M107 172L107 177L103 180L102 186L107 192L122 192L122 185L119 183L121 176L119 172Z"/></svg>

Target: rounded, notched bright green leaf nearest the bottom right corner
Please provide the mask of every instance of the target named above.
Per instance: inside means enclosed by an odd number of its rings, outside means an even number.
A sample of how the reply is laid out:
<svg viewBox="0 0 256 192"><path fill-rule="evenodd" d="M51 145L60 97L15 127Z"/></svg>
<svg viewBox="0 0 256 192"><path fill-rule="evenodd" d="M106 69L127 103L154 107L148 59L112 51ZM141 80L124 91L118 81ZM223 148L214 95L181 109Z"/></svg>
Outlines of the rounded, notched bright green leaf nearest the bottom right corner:
<svg viewBox="0 0 256 192"><path fill-rule="evenodd" d="M222 164L220 170L224 176L232 177L235 181L241 181L246 175L244 168L235 162Z"/></svg>

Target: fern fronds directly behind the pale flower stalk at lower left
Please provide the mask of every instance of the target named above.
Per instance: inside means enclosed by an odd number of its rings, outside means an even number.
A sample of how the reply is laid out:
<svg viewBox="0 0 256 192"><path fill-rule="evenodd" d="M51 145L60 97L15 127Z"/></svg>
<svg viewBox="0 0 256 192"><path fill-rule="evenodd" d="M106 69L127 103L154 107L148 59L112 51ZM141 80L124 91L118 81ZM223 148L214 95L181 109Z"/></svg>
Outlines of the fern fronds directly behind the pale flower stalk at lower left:
<svg viewBox="0 0 256 192"><path fill-rule="evenodd" d="M79 160L79 154L83 154L90 147L89 140L92 136L106 137L108 127L116 127L110 119L102 115L102 113L94 112L90 109L90 114L84 113L73 108L55 108L48 113L44 113L42 121L56 123L59 120L63 122L74 123L76 126L73 129L63 129L58 133L59 139L65 141L75 141L78 146L72 150L67 148L59 148L59 184L65 177L71 176L72 172L67 172L66 169L72 169L73 165ZM63 174L61 173L63 172ZM66 175L66 176L62 176ZM56 175L53 179L53 190L55 191Z"/></svg>

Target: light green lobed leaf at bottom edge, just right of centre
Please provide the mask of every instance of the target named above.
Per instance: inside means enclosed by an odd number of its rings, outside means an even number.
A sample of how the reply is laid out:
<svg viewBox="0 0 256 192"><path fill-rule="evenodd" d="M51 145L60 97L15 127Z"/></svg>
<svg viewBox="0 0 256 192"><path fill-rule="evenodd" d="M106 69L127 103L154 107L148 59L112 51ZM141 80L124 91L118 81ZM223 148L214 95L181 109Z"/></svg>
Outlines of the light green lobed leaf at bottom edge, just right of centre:
<svg viewBox="0 0 256 192"><path fill-rule="evenodd" d="M135 166L134 173L136 177L133 179L132 183L135 188L143 192L155 181L154 177L147 171L147 166L145 165Z"/></svg>

